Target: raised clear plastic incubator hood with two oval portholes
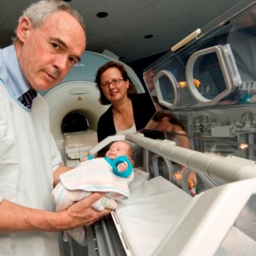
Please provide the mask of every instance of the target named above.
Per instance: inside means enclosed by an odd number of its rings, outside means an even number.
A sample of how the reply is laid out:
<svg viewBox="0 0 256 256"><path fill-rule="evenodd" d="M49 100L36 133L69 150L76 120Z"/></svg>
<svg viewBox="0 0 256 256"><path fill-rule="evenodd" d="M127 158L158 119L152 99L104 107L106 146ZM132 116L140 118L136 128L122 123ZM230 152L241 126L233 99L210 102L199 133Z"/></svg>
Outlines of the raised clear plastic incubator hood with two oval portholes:
<svg viewBox="0 0 256 256"><path fill-rule="evenodd" d="M239 1L143 72L157 109L176 115L189 135L205 137L196 150L208 152L207 138L221 139L245 147L237 154L220 143L216 153L255 160L255 17L255 1Z"/></svg>

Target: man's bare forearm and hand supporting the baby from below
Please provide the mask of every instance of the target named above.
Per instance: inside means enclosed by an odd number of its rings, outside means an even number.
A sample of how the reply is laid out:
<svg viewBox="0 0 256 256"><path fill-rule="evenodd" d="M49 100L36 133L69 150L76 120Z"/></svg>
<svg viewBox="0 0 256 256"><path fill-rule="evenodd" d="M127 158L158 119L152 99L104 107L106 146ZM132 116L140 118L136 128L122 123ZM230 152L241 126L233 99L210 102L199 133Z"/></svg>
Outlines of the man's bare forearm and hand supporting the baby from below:
<svg viewBox="0 0 256 256"><path fill-rule="evenodd" d="M90 225L111 212L111 209L96 211L92 207L104 195L95 192L61 212L33 209L3 200L0 202L0 233L39 230L57 232Z"/></svg>

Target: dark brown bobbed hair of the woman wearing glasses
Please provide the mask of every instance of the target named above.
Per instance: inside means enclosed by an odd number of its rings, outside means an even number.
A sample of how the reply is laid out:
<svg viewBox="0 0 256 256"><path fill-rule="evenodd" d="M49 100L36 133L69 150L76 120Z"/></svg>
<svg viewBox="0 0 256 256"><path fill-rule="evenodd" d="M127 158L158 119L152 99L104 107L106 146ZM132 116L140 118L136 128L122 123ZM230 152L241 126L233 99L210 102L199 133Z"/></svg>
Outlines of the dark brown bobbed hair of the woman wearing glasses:
<svg viewBox="0 0 256 256"><path fill-rule="evenodd" d="M136 90L136 86L132 83L131 79L129 79L129 76L124 68L124 66L121 63L117 63L115 61L108 61L107 63L105 63L102 67L100 67L97 71L96 77L95 77L95 83L97 88L100 91L100 97L99 97L99 102L102 105L109 105L111 104L111 102L106 98L106 96L104 95L102 88L100 86L100 77L102 75L103 72L105 72L108 68L118 68L122 74L122 77L124 79L124 81L129 80L129 88L127 90L127 96L130 98L130 96L132 94L136 94L137 90Z"/></svg>

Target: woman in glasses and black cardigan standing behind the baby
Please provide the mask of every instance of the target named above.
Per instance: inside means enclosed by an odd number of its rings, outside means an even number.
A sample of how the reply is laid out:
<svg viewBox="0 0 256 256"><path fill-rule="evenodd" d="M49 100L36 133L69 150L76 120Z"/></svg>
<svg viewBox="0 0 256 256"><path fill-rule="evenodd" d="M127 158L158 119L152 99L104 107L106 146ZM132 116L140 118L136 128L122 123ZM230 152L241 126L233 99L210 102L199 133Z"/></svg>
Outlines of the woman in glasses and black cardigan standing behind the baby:
<svg viewBox="0 0 256 256"><path fill-rule="evenodd" d="M127 133L143 129L156 112L150 95L137 93L135 85L120 63L109 61L100 67L95 82L100 91L100 104L111 104L99 118L99 142L117 132Z"/></svg>

